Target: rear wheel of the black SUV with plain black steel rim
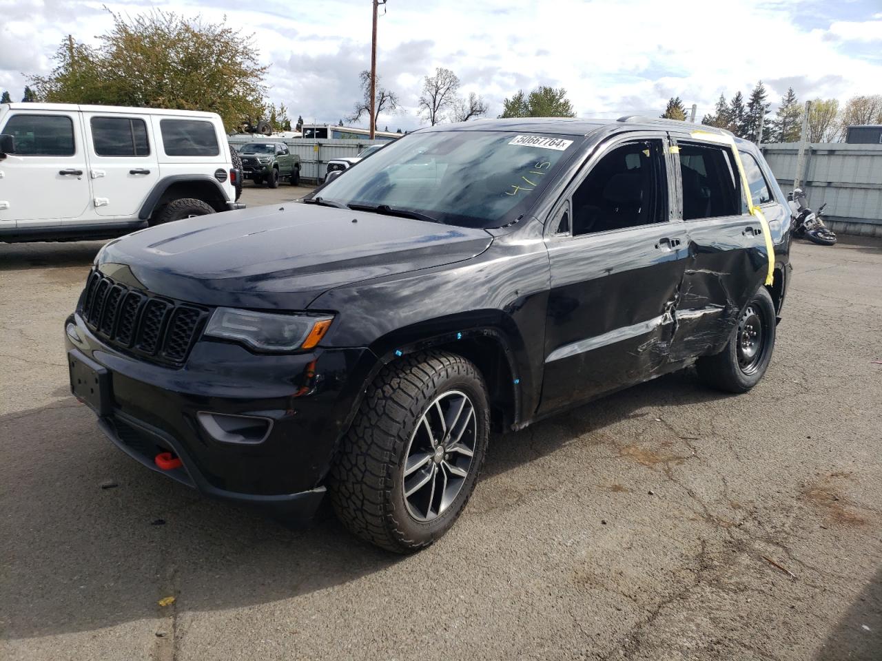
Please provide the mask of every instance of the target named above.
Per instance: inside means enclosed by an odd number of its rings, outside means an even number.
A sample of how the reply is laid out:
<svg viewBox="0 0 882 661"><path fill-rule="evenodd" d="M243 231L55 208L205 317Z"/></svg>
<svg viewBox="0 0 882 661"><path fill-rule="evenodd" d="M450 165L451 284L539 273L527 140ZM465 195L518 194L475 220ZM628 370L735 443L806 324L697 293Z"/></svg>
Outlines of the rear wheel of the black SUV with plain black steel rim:
<svg viewBox="0 0 882 661"><path fill-rule="evenodd" d="M717 390L747 392L766 374L774 338L774 302L760 286L744 306L726 348L715 356L702 356L695 367L701 379Z"/></svg>

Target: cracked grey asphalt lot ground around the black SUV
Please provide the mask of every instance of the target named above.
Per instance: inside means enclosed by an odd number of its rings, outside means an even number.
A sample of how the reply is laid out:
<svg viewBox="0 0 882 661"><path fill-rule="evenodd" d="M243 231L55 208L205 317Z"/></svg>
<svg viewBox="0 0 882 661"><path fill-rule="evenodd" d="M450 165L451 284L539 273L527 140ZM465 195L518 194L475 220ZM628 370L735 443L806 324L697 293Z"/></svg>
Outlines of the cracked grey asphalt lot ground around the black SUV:
<svg viewBox="0 0 882 661"><path fill-rule="evenodd" d="M0 245L0 658L882 658L882 244L795 245L747 395L686 372L495 435L411 557L208 501L101 435L62 341L100 245Z"/></svg>

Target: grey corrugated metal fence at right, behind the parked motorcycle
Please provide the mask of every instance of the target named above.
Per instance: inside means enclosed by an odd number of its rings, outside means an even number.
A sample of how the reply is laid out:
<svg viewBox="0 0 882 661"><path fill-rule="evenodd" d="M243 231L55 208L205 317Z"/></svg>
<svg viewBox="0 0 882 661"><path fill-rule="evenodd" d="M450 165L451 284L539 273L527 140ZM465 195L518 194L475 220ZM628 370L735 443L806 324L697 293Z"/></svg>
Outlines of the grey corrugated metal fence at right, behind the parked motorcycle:
<svg viewBox="0 0 882 661"><path fill-rule="evenodd" d="M781 189L792 190L799 143L762 151ZM882 145L807 145L799 180L812 209L827 203L824 218L833 231L882 236Z"/></svg>

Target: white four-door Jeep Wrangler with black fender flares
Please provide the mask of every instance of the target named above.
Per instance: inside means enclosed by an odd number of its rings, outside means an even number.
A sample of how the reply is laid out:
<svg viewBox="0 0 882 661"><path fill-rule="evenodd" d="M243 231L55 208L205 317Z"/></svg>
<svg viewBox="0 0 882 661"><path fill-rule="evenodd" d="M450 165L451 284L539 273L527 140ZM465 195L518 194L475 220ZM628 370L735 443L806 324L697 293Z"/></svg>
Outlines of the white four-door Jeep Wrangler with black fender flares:
<svg viewBox="0 0 882 661"><path fill-rule="evenodd" d="M0 104L0 242L113 238L241 209L241 190L214 113Z"/></svg>

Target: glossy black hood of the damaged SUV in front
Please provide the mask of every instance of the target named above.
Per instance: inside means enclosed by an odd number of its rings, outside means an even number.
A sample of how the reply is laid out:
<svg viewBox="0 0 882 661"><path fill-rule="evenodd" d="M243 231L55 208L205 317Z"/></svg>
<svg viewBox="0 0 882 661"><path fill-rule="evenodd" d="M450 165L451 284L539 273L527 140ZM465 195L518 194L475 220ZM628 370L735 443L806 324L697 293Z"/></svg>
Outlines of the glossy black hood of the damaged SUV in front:
<svg viewBox="0 0 882 661"><path fill-rule="evenodd" d="M180 301L294 310L333 287L467 260L491 241L482 229L291 202L140 230L97 259L111 278Z"/></svg>

